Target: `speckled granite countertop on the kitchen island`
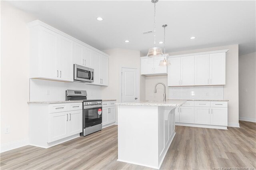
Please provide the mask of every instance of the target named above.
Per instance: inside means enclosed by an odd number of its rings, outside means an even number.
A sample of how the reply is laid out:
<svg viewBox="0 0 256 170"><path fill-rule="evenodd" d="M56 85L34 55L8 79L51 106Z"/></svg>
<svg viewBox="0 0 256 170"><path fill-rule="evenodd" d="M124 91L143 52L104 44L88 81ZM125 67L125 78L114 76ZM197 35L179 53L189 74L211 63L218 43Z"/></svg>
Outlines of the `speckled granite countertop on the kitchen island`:
<svg viewBox="0 0 256 170"><path fill-rule="evenodd" d="M139 103L116 103L123 106L181 106L186 100L167 100L167 101L139 101Z"/></svg>

